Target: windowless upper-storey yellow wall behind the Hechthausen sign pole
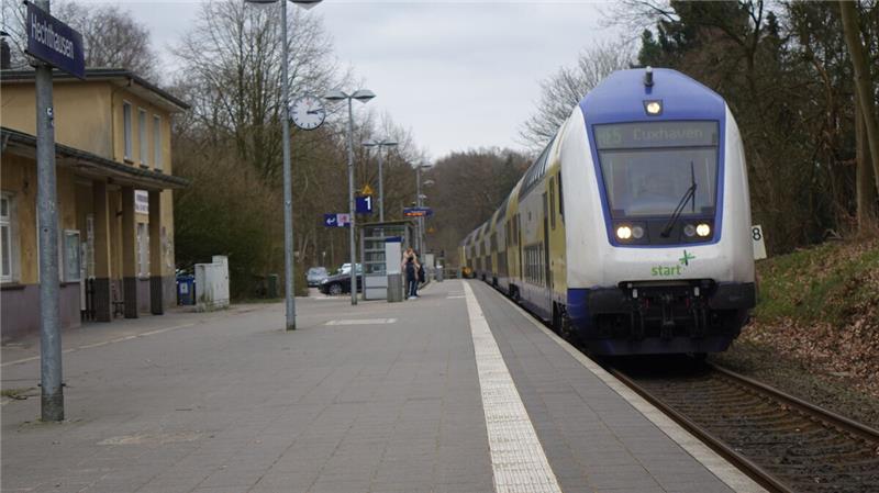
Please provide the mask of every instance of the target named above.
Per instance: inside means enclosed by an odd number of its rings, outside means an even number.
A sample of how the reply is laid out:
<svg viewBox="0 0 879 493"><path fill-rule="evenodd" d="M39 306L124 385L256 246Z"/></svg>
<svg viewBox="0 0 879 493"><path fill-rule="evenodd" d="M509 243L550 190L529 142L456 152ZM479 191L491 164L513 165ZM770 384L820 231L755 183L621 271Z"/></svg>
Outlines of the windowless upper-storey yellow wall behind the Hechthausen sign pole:
<svg viewBox="0 0 879 493"><path fill-rule="evenodd" d="M110 83L55 82L55 142L111 158ZM36 135L36 101L30 83L5 83L0 91L0 124Z"/></svg>

